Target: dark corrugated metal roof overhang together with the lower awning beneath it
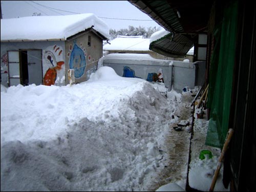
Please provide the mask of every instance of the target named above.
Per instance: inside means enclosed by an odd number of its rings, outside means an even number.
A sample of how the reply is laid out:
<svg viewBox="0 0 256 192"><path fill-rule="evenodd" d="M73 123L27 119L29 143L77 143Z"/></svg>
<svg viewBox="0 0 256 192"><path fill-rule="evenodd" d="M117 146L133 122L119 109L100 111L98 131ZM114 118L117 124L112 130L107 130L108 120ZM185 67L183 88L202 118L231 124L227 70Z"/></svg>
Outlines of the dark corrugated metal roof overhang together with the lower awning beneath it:
<svg viewBox="0 0 256 192"><path fill-rule="evenodd" d="M150 50L170 57L180 57L185 56L193 47L192 34L206 30L213 0L129 2L174 34L173 38L169 34L152 42Z"/></svg>

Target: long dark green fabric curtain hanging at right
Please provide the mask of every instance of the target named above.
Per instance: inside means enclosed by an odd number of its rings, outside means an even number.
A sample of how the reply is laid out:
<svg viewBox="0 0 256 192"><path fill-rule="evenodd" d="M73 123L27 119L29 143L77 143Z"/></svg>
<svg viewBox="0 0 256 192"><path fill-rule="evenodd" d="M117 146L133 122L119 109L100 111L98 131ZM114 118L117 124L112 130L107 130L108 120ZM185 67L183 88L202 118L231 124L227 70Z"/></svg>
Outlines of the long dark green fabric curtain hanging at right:
<svg viewBox="0 0 256 192"><path fill-rule="evenodd" d="M238 2L224 9L215 29L216 45L211 57L207 106L210 108L206 145L223 147L229 129L233 66L236 57Z"/></svg>

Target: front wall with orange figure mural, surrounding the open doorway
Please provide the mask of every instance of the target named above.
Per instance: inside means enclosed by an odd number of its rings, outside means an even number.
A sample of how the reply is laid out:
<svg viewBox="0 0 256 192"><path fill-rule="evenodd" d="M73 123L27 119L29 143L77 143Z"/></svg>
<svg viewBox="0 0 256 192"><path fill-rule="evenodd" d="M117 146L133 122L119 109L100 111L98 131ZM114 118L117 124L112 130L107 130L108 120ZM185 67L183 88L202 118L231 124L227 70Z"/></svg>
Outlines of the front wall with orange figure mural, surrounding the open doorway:
<svg viewBox="0 0 256 192"><path fill-rule="evenodd" d="M64 41L1 42L1 84L6 87L9 86L8 51L20 53L20 50L28 51L28 58L31 57L34 61L40 63L42 75L38 78L41 78L39 80L41 84L65 85ZM35 50L41 50L41 55L30 55ZM17 68L16 76L20 75L18 73ZM33 71L30 73L30 76L32 76ZM31 82L28 84L31 84Z"/></svg>

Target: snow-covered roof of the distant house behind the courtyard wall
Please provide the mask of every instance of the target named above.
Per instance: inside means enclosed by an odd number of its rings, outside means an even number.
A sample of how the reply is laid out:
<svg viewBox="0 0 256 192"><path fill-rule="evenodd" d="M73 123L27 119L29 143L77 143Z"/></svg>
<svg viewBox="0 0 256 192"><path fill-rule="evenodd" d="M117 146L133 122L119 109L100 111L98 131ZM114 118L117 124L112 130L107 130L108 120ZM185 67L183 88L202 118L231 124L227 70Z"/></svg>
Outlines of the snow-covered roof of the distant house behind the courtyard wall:
<svg viewBox="0 0 256 192"><path fill-rule="evenodd" d="M111 45L110 45L111 44ZM123 50L123 51L150 51L150 39L142 36L117 36L110 44L103 46L103 50Z"/></svg>

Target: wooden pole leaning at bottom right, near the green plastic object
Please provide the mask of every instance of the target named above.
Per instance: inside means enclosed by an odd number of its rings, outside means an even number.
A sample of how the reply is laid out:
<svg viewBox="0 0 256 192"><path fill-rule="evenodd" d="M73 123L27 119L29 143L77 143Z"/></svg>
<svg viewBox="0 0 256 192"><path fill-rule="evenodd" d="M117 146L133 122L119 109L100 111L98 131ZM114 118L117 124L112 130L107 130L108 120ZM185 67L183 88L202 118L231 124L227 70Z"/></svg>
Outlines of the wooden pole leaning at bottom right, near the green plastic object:
<svg viewBox="0 0 256 192"><path fill-rule="evenodd" d="M218 164L217 164L217 168L216 168L216 170L214 172L214 177L212 179L209 191L214 191L214 187L215 187L218 175L220 173L221 166L223 164L225 152L227 151L227 147L228 147L228 144L229 144L229 142L231 140L231 137L232 137L233 133L234 133L233 129L229 129L228 132L227 132L226 140L225 140L224 146L222 148L221 156L219 158L219 161L218 161Z"/></svg>

